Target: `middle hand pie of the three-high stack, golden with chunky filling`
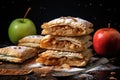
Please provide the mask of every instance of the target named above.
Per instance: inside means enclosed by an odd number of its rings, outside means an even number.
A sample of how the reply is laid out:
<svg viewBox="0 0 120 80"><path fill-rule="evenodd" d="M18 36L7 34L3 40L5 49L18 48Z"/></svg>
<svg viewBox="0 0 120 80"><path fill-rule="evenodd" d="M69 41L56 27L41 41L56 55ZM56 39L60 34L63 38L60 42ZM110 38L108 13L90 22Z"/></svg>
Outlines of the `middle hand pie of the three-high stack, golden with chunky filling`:
<svg viewBox="0 0 120 80"><path fill-rule="evenodd" d="M40 47L45 49L80 52L92 45L90 35L81 37L60 37L46 35L40 41Z"/></svg>

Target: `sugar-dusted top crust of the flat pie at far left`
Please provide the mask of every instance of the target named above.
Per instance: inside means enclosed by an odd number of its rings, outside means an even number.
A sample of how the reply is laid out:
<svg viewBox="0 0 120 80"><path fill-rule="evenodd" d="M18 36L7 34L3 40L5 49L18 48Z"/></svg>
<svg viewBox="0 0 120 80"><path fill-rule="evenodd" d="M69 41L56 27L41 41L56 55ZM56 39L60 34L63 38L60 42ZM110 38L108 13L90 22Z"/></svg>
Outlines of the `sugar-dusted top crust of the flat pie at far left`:
<svg viewBox="0 0 120 80"><path fill-rule="evenodd" d="M13 57L23 57L31 52L37 52L36 49L25 46L7 46L0 48L0 54Z"/></svg>

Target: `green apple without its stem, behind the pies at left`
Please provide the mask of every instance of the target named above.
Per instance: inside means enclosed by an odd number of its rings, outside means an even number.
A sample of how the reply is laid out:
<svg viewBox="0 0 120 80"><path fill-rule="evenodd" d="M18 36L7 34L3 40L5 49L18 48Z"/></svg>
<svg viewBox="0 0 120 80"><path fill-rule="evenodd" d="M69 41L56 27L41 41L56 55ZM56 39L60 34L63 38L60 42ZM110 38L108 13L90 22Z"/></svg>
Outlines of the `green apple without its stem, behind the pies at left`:
<svg viewBox="0 0 120 80"><path fill-rule="evenodd" d="M36 26L28 18L15 19L8 28L9 39L14 44L17 44L19 39L34 34L37 34Z"/></svg>

